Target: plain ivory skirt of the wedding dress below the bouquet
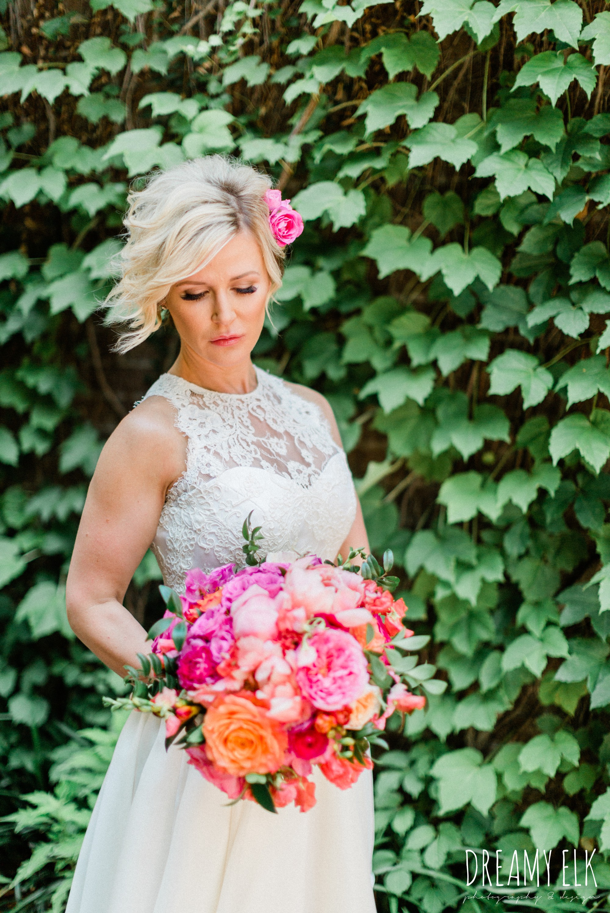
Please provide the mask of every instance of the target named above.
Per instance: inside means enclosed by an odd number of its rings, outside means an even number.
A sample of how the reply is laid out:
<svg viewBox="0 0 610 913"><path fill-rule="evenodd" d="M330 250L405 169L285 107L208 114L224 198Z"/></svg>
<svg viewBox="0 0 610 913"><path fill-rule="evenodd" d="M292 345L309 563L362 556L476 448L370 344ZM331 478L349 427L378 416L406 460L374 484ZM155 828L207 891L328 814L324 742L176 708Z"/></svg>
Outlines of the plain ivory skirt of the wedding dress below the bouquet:
<svg viewBox="0 0 610 913"><path fill-rule="evenodd" d="M133 711L80 851L66 913L374 913L373 781L270 814L226 795Z"/></svg>

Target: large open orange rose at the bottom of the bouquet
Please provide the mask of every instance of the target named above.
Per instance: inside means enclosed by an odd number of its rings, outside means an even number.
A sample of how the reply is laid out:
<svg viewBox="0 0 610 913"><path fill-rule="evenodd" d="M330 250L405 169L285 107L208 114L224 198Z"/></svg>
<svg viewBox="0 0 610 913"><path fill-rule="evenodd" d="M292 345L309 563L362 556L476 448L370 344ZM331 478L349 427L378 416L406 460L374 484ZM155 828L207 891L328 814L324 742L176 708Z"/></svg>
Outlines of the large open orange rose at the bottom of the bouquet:
<svg viewBox="0 0 610 913"><path fill-rule="evenodd" d="M216 699L205 714L204 735L210 761L236 777L277 771L288 745L281 725L237 694Z"/></svg>

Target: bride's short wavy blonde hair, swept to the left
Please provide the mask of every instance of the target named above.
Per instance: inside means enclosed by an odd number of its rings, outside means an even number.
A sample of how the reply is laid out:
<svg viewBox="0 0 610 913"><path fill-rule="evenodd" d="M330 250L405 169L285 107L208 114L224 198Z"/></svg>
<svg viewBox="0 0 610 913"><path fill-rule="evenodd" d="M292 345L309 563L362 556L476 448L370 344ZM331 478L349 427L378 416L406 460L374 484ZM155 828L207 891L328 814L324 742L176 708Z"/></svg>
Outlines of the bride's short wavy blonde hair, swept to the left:
<svg viewBox="0 0 610 913"><path fill-rule="evenodd" d="M127 242L115 260L121 279L106 299L106 322L130 328L116 351L128 352L158 330L172 286L205 267L239 231L258 241L270 296L279 289L284 251L269 227L263 197L270 187L268 176L250 165L206 155L154 172L142 190L131 191Z"/></svg>

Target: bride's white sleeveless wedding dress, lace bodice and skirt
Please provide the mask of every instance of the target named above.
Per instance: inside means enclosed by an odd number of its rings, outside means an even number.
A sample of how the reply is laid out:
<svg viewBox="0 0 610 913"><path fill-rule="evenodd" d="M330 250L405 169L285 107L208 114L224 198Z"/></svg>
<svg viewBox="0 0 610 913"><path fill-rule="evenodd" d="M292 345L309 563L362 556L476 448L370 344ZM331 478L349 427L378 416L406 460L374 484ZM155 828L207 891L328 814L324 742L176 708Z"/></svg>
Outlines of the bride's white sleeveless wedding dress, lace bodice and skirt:
<svg viewBox="0 0 610 913"><path fill-rule="evenodd" d="M250 511L268 552L334 559L355 515L342 449L315 404L257 369L249 394L163 374L188 438L153 542L164 581L241 562ZM360 543L353 543L359 545ZM374 913L373 783L342 791L315 769L317 804L266 812L224 792L163 746L150 714L127 719L85 836L67 913Z"/></svg>

